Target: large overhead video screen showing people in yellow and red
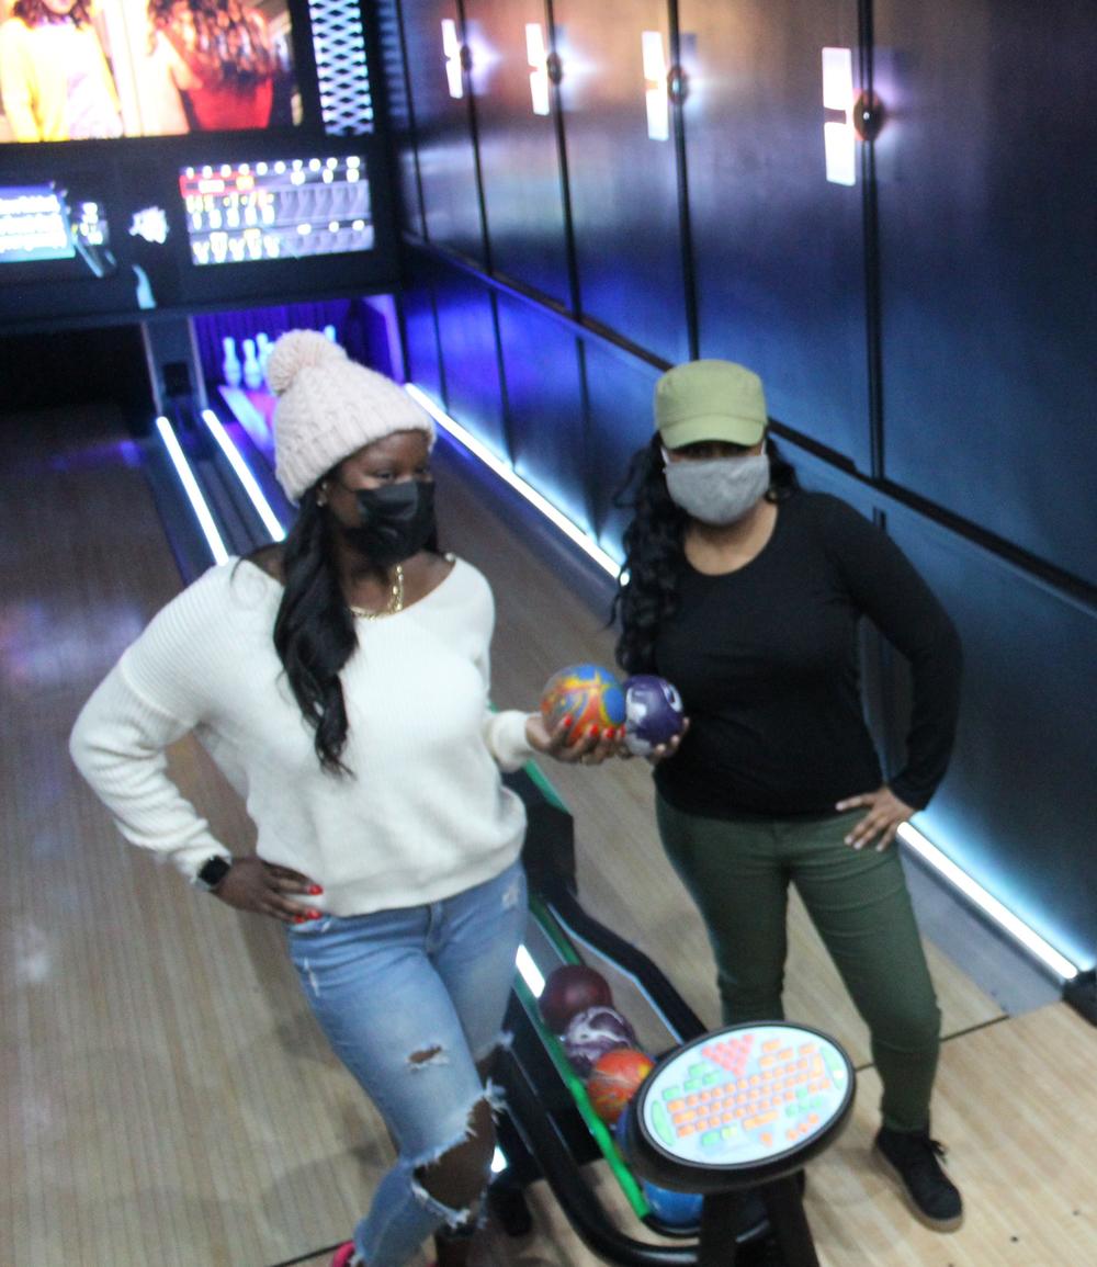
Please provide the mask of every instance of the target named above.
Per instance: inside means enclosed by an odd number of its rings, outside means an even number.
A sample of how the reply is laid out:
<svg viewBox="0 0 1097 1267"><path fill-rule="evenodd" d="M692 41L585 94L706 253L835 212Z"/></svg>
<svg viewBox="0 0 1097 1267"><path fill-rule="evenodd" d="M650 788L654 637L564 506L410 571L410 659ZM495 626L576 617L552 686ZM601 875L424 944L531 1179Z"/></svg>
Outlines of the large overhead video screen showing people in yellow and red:
<svg viewBox="0 0 1097 1267"><path fill-rule="evenodd" d="M0 0L0 142L301 119L288 0Z"/></svg>

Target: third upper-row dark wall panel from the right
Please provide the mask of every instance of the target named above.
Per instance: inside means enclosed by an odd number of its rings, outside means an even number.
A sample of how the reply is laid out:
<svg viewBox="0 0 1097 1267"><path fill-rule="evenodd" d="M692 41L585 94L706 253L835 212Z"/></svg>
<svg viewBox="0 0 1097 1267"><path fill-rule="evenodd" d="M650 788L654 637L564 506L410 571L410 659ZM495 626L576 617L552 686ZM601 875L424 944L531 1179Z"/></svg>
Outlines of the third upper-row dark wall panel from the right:
<svg viewBox="0 0 1097 1267"><path fill-rule="evenodd" d="M689 356L671 141L647 134L641 32L659 0L557 0L579 295L588 317L668 361Z"/></svg>

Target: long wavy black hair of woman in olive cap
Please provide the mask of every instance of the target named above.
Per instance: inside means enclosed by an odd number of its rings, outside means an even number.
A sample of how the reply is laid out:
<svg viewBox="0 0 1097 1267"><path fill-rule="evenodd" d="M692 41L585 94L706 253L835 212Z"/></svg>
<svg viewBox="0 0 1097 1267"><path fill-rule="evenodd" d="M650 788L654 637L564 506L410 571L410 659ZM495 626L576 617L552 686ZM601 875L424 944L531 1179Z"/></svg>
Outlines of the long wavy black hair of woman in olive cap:
<svg viewBox="0 0 1097 1267"><path fill-rule="evenodd" d="M770 484L766 500L783 502L799 481L796 470L766 437ZM656 433L628 465L613 504L632 511L625 530L625 564L617 580L611 620L621 622L617 663L626 673L655 669L655 641L663 621L678 607L678 578L689 516L670 499L663 474L663 443Z"/></svg>

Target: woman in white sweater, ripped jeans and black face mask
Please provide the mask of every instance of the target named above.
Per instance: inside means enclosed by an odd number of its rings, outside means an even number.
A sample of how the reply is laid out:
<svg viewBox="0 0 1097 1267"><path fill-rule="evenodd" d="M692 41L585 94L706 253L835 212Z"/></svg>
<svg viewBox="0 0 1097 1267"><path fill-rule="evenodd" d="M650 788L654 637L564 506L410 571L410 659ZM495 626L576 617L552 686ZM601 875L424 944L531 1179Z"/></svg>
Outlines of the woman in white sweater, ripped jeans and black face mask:
<svg viewBox="0 0 1097 1267"><path fill-rule="evenodd" d="M464 1258L494 1152L488 1068L524 931L524 812L500 769L618 735L493 712L491 592L433 552L429 416L322 334L269 362L282 546L212 568L81 712L80 770L136 845L285 921L304 992L398 1148L333 1267ZM234 856L166 774L194 731L244 797Z"/></svg>

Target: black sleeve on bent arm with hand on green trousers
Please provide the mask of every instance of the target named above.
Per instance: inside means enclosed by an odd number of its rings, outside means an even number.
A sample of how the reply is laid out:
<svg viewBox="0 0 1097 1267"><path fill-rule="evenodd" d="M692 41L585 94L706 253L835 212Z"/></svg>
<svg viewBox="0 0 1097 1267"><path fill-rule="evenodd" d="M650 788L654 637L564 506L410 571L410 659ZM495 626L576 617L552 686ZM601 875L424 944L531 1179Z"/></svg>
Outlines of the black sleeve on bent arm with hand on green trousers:
<svg viewBox="0 0 1097 1267"><path fill-rule="evenodd" d="M826 502L828 545L854 603L911 665L906 764L888 786L901 801L923 810L945 777L955 741L960 639L948 612L894 541L844 502Z"/></svg>

